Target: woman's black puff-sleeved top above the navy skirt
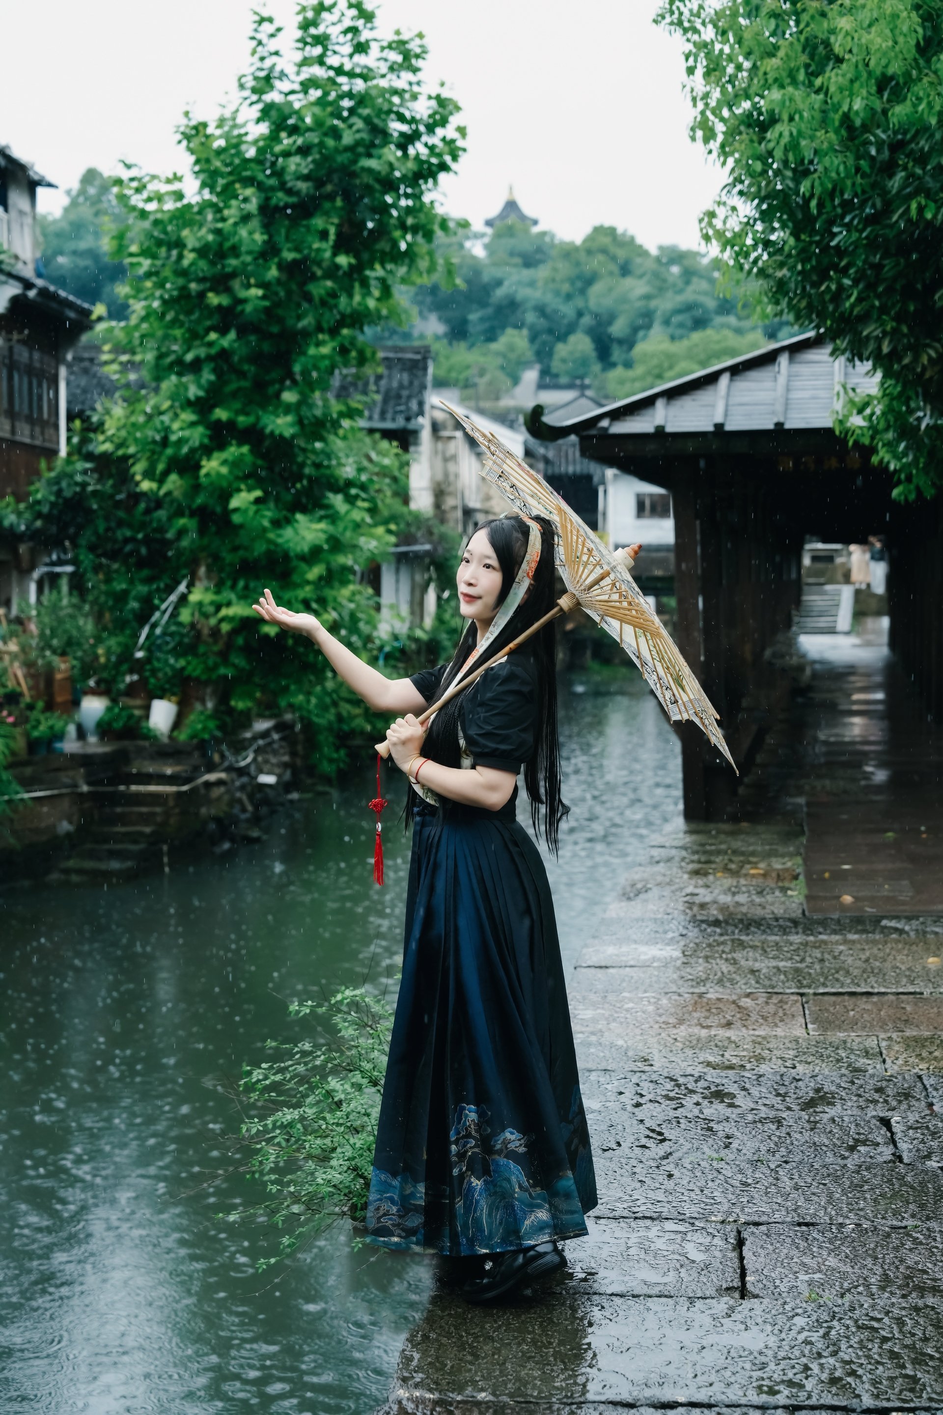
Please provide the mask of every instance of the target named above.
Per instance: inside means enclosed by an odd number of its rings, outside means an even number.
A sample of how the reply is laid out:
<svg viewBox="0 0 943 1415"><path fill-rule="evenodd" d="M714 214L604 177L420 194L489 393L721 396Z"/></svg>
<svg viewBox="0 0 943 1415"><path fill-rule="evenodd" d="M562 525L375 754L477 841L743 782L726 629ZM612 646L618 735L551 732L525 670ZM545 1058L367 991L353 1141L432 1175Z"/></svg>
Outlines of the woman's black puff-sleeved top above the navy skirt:
<svg viewBox="0 0 943 1415"><path fill-rule="evenodd" d="M413 674L410 682L428 703L447 664ZM530 654L516 652L492 664L459 699L458 722L476 767L493 767L517 775L536 749L537 665Z"/></svg>

